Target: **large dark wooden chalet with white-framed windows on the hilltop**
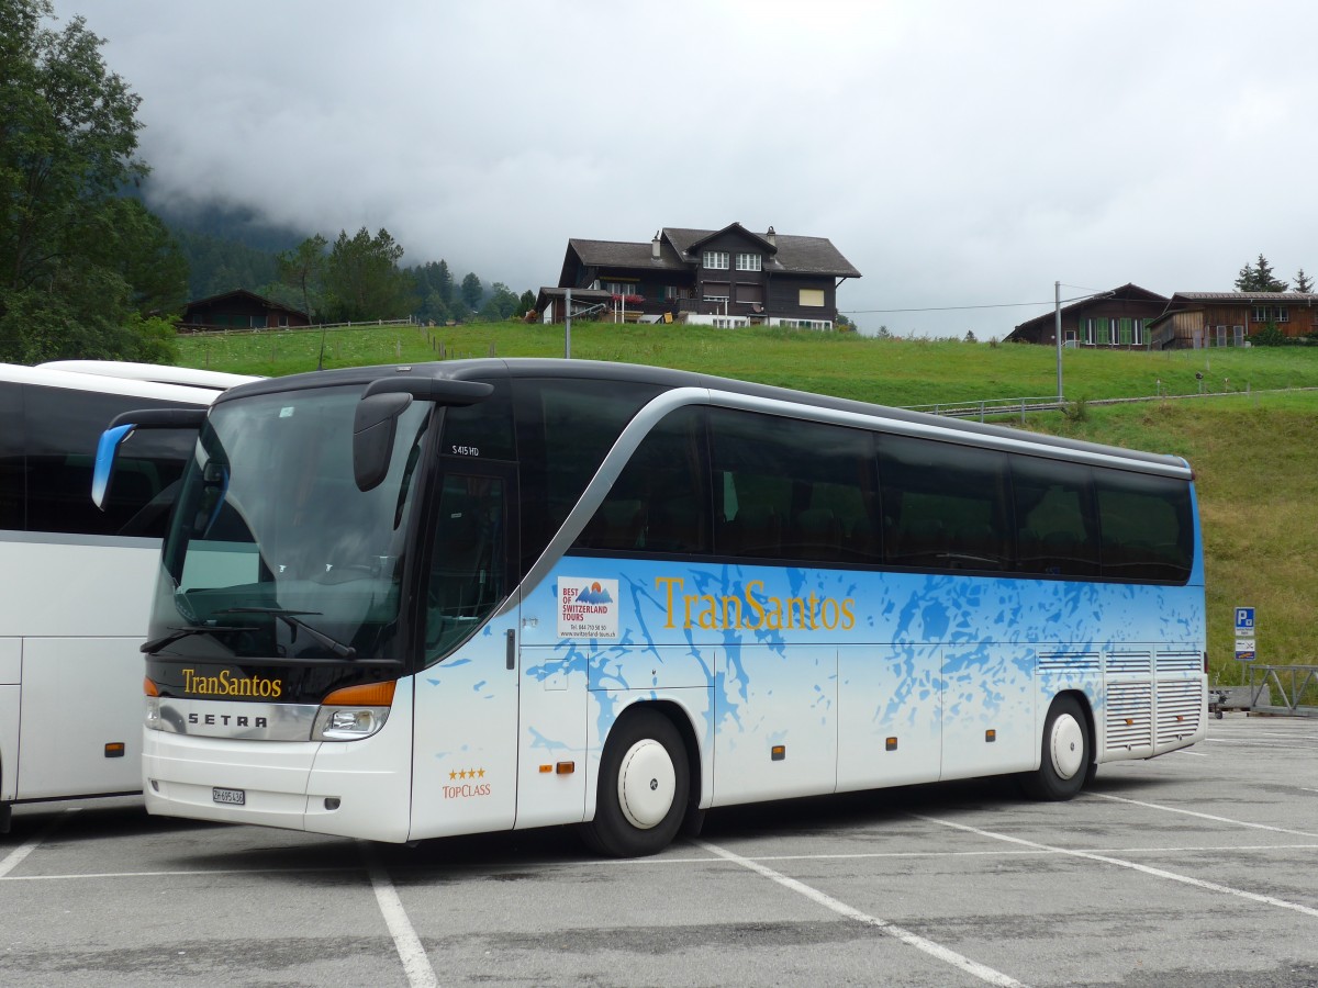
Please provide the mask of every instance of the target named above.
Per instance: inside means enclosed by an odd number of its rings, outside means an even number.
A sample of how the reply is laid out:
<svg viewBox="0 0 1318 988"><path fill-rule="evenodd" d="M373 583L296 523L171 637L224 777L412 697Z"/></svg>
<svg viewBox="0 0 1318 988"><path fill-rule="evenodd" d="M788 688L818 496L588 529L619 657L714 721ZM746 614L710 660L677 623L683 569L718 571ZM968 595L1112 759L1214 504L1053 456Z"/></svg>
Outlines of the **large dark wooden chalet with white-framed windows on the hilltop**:
<svg viewBox="0 0 1318 988"><path fill-rule="evenodd" d="M832 329L838 286L859 277L824 237L666 227L648 244L569 240L559 283L535 308L563 321L571 288L573 316Z"/></svg>

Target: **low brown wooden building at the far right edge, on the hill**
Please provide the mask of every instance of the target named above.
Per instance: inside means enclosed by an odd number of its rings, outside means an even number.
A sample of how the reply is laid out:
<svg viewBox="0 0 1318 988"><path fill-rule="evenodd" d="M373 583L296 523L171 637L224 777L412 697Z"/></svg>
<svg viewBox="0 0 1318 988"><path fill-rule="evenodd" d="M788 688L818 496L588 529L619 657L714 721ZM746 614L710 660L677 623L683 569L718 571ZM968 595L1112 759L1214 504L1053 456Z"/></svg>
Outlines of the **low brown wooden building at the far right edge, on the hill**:
<svg viewBox="0 0 1318 988"><path fill-rule="evenodd" d="M1285 336L1318 333L1318 292L1178 291L1148 329L1160 348L1199 349L1243 346L1269 325Z"/></svg>

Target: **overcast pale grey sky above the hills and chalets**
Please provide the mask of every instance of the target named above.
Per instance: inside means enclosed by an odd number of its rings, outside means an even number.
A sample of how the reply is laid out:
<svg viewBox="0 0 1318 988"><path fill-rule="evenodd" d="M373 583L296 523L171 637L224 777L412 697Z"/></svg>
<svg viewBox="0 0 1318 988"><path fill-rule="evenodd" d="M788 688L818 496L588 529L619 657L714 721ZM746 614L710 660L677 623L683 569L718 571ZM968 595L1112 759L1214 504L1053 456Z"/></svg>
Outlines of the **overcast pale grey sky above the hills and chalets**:
<svg viewBox="0 0 1318 988"><path fill-rule="evenodd" d="M733 221L832 240L867 332L1000 337L1056 281L1228 291L1260 252L1318 275L1310 0L55 11L142 97L159 194L385 227L518 292L569 237Z"/></svg>

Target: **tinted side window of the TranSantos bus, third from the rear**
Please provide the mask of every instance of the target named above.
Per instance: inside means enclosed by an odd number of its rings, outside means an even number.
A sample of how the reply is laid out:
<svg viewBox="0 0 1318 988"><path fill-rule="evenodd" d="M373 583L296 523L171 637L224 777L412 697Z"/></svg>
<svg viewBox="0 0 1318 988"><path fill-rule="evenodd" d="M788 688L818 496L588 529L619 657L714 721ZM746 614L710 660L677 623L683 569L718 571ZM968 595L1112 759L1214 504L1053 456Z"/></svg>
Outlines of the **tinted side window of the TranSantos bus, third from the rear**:
<svg viewBox="0 0 1318 988"><path fill-rule="evenodd" d="M909 436L879 439L884 560L1011 569L1007 454Z"/></svg>

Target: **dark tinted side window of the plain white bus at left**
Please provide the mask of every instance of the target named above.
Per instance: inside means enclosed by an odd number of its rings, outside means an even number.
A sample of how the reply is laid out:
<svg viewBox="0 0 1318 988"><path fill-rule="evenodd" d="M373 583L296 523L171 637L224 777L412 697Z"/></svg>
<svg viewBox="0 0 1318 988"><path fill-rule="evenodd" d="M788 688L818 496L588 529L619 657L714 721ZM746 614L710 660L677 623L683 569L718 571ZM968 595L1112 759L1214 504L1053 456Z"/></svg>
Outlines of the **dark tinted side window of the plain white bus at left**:
<svg viewBox="0 0 1318 988"><path fill-rule="evenodd" d="M195 432L134 433L120 447L104 511L91 502L91 472L111 419L163 407L169 403L130 395L28 386L28 531L161 537Z"/></svg>

